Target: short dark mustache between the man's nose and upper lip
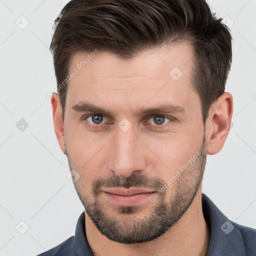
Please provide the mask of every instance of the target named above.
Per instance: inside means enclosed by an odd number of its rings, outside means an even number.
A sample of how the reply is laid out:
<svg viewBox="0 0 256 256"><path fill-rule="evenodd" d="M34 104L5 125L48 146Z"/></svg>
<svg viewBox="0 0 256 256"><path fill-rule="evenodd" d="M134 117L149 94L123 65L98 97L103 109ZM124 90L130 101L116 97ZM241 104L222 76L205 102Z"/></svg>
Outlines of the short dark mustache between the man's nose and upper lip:
<svg viewBox="0 0 256 256"><path fill-rule="evenodd" d="M92 183L92 194L97 196L102 187L144 187L144 188L152 188L158 190L164 181L159 177L148 177L145 174L135 174L132 173L128 177L119 177L116 174L109 178L97 178Z"/></svg>

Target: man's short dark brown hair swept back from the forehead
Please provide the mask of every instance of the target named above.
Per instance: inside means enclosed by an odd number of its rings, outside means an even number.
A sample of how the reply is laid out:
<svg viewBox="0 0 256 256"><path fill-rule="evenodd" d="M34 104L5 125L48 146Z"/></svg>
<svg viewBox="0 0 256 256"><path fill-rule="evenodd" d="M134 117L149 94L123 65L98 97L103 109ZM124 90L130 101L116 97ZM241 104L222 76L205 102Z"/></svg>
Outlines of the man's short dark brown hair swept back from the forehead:
<svg viewBox="0 0 256 256"><path fill-rule="evenodd" d="M71 0L54 23L50 50L57 84L67 76L71 54L106 50L130 58L150 47L191 41L193 87L208 110L225 89L232 50L228 28L204 0ZM64 118L66 86L57 86Z"/></svg>

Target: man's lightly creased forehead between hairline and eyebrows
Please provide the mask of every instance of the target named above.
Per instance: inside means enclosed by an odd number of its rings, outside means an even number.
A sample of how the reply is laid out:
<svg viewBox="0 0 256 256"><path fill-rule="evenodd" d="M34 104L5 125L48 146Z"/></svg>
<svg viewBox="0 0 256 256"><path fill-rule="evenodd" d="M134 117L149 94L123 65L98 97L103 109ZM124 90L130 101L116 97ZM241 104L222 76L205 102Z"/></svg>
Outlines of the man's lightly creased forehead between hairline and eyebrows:
<svg viewBox="0 0 256 256"><path fill-rule="evenodd" d="M129 107L150 97L150 102L168 97L174 104L186 104L194 94L190 82L193 47L189 42L150 48L129 59L95 52L72 55L69 73L76 70L76 74L68 84L67 103L92 99L102 106L111 100Z"/></svg>

